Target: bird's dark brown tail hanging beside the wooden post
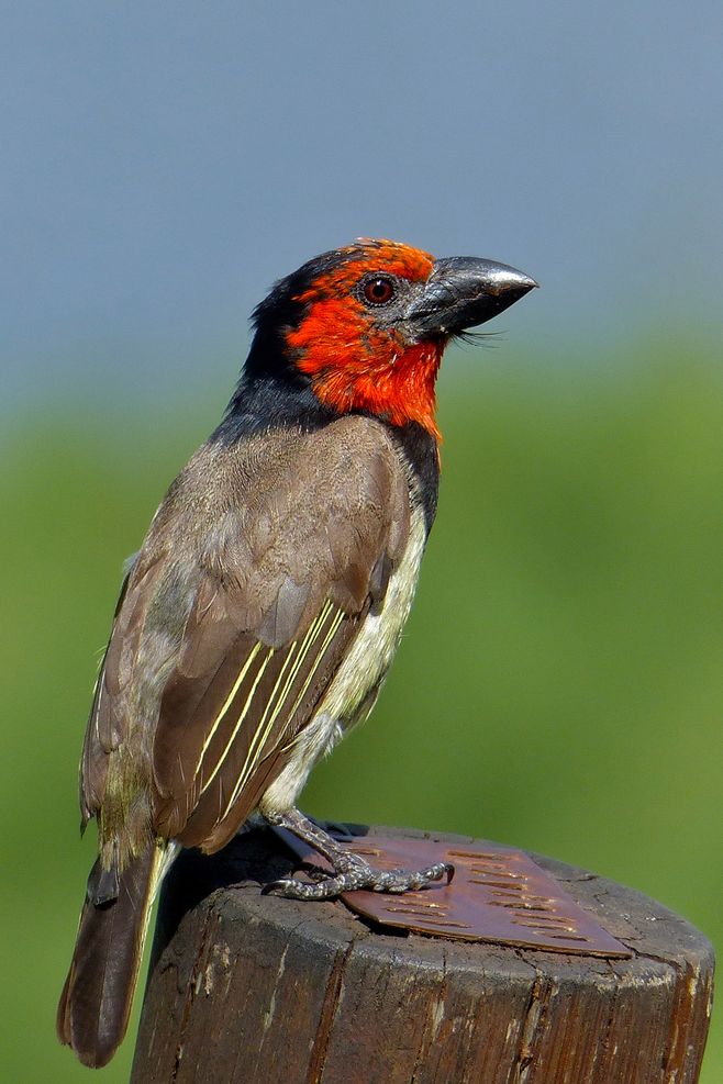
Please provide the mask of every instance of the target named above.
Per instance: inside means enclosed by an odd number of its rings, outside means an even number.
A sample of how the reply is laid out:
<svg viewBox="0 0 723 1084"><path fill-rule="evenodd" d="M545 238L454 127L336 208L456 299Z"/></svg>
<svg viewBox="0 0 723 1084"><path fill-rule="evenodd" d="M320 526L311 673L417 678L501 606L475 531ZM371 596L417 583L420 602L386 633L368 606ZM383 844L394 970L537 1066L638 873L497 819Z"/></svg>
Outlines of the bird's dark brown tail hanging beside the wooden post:
<svg viewBox="0 0 723 1084"><path fill-rule="evenodd" d="M84 1065L105 1065L125 1035L164 858L164 848L152 843L120 873L110 899L100 859L90 871L57 1015L60 1042Z"/></svg>

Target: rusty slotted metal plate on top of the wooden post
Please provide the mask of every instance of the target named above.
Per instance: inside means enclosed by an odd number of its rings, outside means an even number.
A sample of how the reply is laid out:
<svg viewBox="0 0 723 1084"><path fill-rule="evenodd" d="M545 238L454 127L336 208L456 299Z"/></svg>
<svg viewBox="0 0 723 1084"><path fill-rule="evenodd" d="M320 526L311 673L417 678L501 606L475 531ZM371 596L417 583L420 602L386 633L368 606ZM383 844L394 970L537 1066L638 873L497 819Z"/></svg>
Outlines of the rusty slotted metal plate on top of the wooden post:
<svg viewBox="0 0 723 1084"><path fill-rule="evenodd" d="M278 834L302 861L331 871L331 865L307 843L285 830ZM435 862L454 864L455 876L449 885L433 884L403 895L342 895L347 907L382 926L548 952L633 956L522 851L481 841L451 845L401 836L336 838L380 870L420 870Z"/></svg>

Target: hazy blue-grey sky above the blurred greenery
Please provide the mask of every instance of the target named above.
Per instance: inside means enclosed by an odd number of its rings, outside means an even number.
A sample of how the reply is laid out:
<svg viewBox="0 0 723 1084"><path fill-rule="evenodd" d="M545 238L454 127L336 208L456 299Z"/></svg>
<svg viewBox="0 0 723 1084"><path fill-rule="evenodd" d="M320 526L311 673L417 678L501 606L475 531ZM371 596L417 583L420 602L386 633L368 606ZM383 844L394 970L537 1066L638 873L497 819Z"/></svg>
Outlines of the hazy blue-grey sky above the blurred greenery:
<svg viewBox="0 0 723 1084"><path fill-rule="evenodd" d="M532 355L720 329L719 0L25 0L2 25L14 413L225 394L270 282L357 235L533 273L499 322Z"/></svg>

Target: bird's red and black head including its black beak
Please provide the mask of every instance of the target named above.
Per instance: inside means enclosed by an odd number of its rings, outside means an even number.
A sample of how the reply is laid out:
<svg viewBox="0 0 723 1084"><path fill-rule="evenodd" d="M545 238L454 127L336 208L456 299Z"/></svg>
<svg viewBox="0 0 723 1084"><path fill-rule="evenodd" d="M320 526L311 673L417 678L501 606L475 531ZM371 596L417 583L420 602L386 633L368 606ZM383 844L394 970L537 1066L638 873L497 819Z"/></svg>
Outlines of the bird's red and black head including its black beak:
<svg viewBox="0 0 723 1084"><path fill-rule="evenodd" d="M277 283L256 310L257 328L270 321L280 332L285 357L326 406L416 422L438 438L434 385L446 344L534 286L507 264L364 239Z"/></svg>

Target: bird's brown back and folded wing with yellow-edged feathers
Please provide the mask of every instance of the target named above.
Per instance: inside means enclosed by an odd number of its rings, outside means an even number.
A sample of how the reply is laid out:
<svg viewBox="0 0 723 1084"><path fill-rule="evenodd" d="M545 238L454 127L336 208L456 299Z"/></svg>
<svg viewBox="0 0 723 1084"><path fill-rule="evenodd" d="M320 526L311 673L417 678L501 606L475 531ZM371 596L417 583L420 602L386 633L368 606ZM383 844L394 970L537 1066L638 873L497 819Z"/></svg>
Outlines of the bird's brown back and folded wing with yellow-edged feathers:
<svg viewBox="0 0 723 1084"><path fill-rule="evenodd" d="M89 726L87 809L123 832L145 808L163 836L223 846L383 597L409 515L403 468L367 418L201 449L116 617ZM147 780L140 796L134 775Z"/></svg>

